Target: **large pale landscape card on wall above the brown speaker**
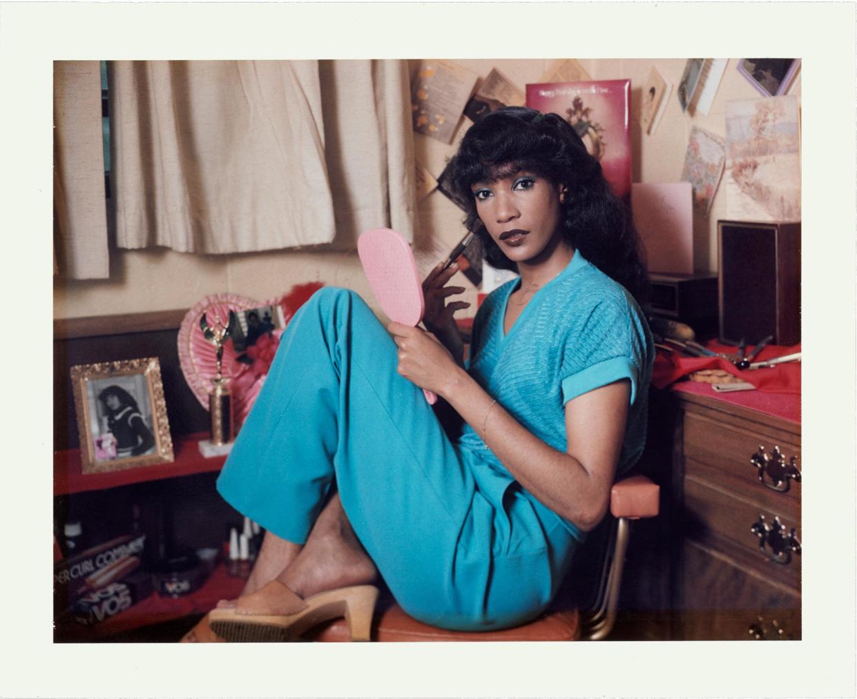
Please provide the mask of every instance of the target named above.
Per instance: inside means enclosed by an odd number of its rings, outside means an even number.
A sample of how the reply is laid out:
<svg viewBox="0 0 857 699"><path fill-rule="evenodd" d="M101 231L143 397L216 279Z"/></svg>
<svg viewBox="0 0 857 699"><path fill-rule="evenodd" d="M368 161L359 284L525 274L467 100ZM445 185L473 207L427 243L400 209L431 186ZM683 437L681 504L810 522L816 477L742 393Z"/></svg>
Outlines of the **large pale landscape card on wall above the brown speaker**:
<svg viewBox="0 0 857 699"><path fill-rule="evenodd" d="M738 221L800 221L797 97L726 103L726 212Z"/></svg>

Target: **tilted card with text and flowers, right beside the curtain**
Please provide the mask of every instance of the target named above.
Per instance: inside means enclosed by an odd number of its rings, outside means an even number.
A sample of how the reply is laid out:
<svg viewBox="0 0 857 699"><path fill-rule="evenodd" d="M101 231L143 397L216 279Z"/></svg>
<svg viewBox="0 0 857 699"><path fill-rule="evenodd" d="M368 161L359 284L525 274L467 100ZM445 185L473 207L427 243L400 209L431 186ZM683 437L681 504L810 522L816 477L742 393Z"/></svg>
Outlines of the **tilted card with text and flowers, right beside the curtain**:
<svg viewBox="0 0 857 699"><path fill-rule="evenodd" d="M450 61L422 61L411 86L414 130L452 143L478 75Z"/></svg>

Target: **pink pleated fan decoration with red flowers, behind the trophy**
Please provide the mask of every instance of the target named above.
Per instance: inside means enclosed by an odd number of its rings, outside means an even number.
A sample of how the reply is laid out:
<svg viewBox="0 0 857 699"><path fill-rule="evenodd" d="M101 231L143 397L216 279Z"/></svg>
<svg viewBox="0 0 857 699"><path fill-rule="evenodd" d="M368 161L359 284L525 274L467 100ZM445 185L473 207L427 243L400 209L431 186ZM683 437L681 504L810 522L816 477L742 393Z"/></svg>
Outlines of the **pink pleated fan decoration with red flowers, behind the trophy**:
<svg viewBox="0 0 857 699"><path fill-rule="evenodd" d="M211 389L212 379L217 375L217 349L202 335L202 314L206 314L208 325L214 326L218 321L225 324L231 310L238 313L252 308L279 306L283 312L284 323L287 324L303 302L322 286L323 284L318 282L297 284L279 299L264 302L234 294L206 296L188 311L178 331L178 359L190 390L203 408L208 409L208 391ZM231 379L236 427L240 427L249 415L250 408L265 383L282 332L283 327L279 327L270 335L262 334L255 340L255 344L243 352L236 351L231 339L224 345L221 369L224 377ZM239 356L242 355L246 355L245 360L239 361Z"/></svg>

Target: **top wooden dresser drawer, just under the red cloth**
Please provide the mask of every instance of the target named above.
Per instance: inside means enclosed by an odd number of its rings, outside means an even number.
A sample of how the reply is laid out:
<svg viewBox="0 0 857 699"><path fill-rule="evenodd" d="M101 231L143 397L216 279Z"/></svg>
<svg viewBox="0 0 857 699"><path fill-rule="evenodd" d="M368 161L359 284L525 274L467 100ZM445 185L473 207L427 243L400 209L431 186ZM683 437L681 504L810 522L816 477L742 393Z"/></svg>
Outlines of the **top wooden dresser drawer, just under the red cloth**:
<svg viewBox="0 0 857 699"><path fill-rule="evenodd" d="M794 474L794 469L800 474L800 447L783 439L786 435L770 436L756 428L724 424L693 412L685 414L683 434L686 474L715 482L740 497L758 500L774 509L788 509L785 503L791 505L792 511L799 506L800 475L787 474ZM764 451L759 450L760 446ZM775 447L782 458L776 457ZM764 464L764 482L759 480L753 457Z"/></svg>

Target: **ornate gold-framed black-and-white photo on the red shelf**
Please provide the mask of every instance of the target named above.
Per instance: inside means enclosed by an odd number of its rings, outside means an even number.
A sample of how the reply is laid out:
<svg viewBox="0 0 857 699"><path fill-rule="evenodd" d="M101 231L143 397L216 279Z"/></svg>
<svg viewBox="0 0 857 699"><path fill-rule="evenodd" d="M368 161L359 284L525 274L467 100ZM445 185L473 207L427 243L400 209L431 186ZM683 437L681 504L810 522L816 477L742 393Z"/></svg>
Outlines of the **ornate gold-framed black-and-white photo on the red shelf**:
<svg viewBox="0 0 857 699"><path fill-rule="evenodd" d="M173 460L158 357L71 367L83 473Z"/></svg>

